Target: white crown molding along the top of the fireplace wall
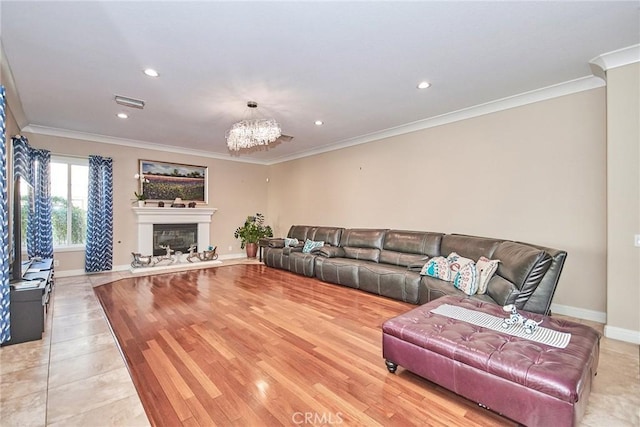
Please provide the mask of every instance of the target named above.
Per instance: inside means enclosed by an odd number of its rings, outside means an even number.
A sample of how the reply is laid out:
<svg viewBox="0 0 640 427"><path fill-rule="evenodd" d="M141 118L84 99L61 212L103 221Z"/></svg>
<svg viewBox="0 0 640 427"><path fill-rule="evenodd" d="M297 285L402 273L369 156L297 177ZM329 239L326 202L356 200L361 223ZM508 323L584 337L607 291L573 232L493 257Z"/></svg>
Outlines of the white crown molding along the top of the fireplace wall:
<svg viewBox="0 0 640 427"><path fill-rule="evenodd" d="M22 132L29 132L37 135L55 136L60 138L80 139L89 142L98 142L101 144L122 145L125 147L141 148L144 150L157 150L176 154L189 154L192 156L208 157L211 159L229 160L232 162L254 163L264 165L264 161L252 160L247 158L234 158L232 155L224 155L211 153L210 151L193 150L183 147L175 147L171 145L153 144L151 142L138 141L135 139L116 138L113 136L99 135L94 133L72 131L66 129L52 128L48 126L28 125L22 129Z"/></svg>

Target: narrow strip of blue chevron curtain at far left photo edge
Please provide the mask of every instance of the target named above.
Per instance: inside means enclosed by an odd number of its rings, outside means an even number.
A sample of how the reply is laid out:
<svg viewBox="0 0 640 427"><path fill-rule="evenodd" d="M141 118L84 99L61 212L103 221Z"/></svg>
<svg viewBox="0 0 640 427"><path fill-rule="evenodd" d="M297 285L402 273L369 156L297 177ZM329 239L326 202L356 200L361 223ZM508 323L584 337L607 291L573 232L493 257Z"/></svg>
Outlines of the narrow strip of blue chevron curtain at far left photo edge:
<svg viewBox="0 0 640 427"><path fill-rule="evenodd" d="M9 319L9 208L7 195L7 140L4 86L0 86L0 343L11 339Z"/></svg>

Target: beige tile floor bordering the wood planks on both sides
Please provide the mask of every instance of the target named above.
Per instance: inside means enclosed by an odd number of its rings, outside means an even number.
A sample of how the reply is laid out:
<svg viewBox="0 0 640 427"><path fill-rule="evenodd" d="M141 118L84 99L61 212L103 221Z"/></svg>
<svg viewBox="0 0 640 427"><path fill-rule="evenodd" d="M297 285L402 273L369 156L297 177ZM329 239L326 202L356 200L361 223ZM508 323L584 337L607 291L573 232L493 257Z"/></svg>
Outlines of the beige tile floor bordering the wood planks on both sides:
<svg viewBox="0 0 640 427"><path fill-rule="evenodd" d="M130 276L116 272L56 279L42 340L0 348L0 425L149 425L92 289ZM581 426L640 426L637 345L602 339L598 375Z"/></svg>

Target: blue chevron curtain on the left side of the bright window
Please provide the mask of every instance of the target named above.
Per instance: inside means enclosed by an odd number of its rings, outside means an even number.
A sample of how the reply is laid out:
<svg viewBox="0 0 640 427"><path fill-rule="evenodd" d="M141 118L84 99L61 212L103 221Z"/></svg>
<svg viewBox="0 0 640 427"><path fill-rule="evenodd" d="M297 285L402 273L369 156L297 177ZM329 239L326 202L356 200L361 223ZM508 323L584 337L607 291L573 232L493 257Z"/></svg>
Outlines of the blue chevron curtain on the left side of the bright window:
<svg viewBox="0 0 640 427"><path fill-rule="evenodd" d="M29 257L53 258L53 226L51 224L51 153L49 150L29 150L34 188L33 209L27 221L27 253Z"/></svg>

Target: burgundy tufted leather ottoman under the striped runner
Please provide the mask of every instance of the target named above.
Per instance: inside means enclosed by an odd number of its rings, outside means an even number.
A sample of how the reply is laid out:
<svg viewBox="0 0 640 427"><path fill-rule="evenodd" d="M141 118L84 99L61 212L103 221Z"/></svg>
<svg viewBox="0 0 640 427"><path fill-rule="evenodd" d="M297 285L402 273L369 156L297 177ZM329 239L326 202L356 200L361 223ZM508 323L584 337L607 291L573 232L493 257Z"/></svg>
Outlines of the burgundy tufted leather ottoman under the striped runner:
<svg viewBox="0 0 640 427"><path fill-rule="evenodd" d="M398 365L528 426L571 426L584 415L598 367L600 334L539 314L540 327L571 334L565 348L540 344L430 310L442 304L497 317L502 307L469 298L438 298L382 325L387 368Z"/></svg>

